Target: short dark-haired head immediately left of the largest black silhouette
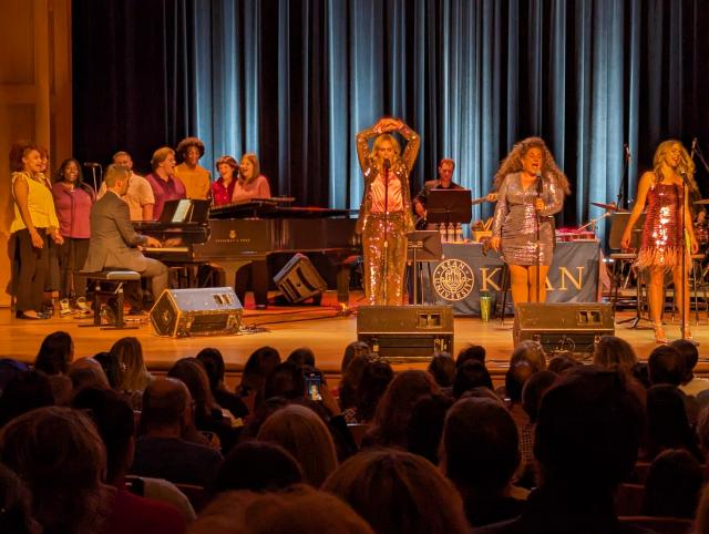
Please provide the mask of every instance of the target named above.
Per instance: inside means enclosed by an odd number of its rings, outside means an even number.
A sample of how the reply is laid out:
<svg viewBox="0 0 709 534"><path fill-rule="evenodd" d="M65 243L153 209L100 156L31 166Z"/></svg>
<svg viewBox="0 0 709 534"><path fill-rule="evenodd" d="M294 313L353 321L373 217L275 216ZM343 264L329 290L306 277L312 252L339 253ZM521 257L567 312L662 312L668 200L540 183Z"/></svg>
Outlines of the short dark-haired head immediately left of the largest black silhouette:
<svg viewBox="0 0 709 534"><path fill-rule="evenodd" d="M499 402L460 400L445 418L445 474L464 492L501 495L520 464L518 442L517 427Z"/></svg>

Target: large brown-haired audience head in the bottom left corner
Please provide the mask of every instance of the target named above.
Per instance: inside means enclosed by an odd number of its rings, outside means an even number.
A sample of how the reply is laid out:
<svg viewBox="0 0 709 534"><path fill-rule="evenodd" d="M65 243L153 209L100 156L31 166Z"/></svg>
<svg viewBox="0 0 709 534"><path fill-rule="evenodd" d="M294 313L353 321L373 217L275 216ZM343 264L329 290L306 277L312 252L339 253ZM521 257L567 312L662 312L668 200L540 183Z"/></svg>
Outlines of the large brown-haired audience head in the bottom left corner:
<svg viewBox="0 0 709 534"><path fill-rule="evenodd" d="M105 450L94 424L69 408L39 408L0 432L0 458L28 485L44 532L101 532Z"/></svg>

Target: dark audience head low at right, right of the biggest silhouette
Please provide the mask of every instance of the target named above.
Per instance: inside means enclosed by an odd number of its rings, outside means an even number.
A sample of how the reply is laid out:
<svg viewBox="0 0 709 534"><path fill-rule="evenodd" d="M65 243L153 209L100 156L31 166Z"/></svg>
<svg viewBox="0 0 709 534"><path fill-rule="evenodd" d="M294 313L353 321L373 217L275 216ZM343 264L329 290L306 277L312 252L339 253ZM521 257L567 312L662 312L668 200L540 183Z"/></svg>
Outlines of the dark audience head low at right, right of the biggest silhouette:
<svg viewBox="0 0 709 534"><path fill-rule="evenodd" d="M668 450L650 464L643 515L693 520L703 483L701 465L684 450Z"/></svg>

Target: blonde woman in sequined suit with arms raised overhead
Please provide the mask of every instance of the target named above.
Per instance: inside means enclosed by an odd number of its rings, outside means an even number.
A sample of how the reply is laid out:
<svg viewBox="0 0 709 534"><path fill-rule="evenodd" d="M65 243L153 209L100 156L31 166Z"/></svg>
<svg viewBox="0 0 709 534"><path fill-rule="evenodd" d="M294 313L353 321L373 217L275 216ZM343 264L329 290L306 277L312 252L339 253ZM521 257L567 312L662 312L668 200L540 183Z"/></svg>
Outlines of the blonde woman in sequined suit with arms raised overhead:
<svg viewBox="0 0 709 534"><path fill-rule="evenodd" d="M392 132L407 140L403 155ZM364 175L357 233L362 235L364 295L370 305L403 304L407 233L413 230L409 174L420 143L403 121L391 117L357 134L357 156Z"/></svg>

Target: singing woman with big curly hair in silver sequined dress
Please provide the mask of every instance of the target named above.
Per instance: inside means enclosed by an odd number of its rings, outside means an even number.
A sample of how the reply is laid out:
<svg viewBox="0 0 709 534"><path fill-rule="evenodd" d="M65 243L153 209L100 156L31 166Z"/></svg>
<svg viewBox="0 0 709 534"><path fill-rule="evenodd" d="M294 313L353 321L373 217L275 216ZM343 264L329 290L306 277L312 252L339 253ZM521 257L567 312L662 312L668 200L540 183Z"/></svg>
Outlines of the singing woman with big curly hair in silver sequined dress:
<svg viewBox="0 0 709 534"><path fill-rule="evenodd" d="M571 193L568 179L544 141L527 137L515 144L500 165L493 189L499 199L490 244L494 250L502 248L510 268L512 298L515 305L544 302L554 253L553 215L561 212L564 195Z"/></svg>

